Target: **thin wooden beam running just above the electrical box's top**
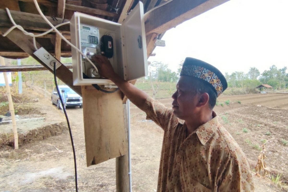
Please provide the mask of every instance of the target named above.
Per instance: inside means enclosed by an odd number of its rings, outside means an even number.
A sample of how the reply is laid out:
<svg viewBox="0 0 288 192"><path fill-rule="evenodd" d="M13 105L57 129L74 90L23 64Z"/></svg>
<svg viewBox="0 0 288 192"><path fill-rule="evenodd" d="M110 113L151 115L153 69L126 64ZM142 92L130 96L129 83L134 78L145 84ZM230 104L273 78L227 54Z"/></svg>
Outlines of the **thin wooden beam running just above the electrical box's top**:
<svg viewBox="0 0 288 192"><path fill-rule="evenodd" d="M71 11L78 11L78 12L83 12L87 14L96 14L96 15L103 15L103 16L109 16L109 17L116 17L118 16L117 13L109 12L109 11L104 11L101 9L94 9L90 7L83 7L79 5L71 5L66 3L66 8Z"/></svg>

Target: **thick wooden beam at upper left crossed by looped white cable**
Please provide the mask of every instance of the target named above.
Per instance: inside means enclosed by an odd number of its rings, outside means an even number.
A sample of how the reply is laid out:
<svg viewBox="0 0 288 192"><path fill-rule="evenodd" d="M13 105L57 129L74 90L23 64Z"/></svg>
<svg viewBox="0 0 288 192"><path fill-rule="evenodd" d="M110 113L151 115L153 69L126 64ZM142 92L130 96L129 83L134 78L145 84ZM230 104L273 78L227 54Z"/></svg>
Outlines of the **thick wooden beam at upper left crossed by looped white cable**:
<svg viewBox="0 0 288 192"><path fill-rule="evenodd" d="M20 24L24 29L30 29L34 31L48 31L51 26L47 24L43 18L38 14L24 13L20 11L10 11L14 21L16 24ZM46 17L54 26L58 25L62 22L67 22L69 20L61 18L57 18L57 20L53 20L51 17ZM0 9L0 27L11 27L13 24L11 23L6 10ZM70 34L70 25L63 25L58 27L58 30L62 33ZM6 31L2 31L5 33Z"/></svg>

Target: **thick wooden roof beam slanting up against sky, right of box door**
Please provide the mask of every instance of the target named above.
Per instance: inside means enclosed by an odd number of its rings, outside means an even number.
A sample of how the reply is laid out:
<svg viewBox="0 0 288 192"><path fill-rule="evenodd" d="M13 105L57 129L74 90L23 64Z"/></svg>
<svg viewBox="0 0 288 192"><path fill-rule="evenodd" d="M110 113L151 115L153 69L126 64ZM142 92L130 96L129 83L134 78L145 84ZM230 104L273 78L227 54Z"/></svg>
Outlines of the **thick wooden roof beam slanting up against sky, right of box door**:
<svg viewBox="0 0 288 192"><path fill-rule="evenodd" d="M145 14L146 35L163 33L186 20L196 17L228 0L173 0Z"/></svg>

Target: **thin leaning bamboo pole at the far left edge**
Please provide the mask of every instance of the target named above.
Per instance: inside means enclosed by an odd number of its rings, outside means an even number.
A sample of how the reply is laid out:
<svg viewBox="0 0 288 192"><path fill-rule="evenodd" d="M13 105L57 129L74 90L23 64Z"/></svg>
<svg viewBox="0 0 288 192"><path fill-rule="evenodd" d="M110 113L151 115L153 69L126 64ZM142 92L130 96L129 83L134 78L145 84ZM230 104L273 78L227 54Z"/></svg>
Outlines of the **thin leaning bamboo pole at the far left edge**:
<svg viewBox="0 0 288 192"><path fill-rule="evenodd" d="M0 56L0 64L5 66L5 60L1 56ZM9 101L9 111L11 113L11 119L12 119L12 125L13 125L14 148L18 149L18 133L17 133L17 127L16 127L15 112L14 112L14 106L13 106L13 101L12 101L12 96L11 96L11 91L10 91L7 73L3 73L3 76L4 76L4 80L5 80L6 92L7 92L8 101Z"/></svg>

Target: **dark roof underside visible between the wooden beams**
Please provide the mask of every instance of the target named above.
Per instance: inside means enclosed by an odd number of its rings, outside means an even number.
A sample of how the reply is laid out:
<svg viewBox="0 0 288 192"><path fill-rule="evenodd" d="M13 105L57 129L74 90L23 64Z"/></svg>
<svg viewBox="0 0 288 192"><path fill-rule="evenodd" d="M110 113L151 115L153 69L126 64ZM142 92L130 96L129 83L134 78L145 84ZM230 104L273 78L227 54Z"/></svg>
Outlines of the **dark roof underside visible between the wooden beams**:
<svg viewBox="0 0 288 192"><path fill-rule="evenodd" d="M42 12L46 16L59 17L58 16L58 1L63 0L37 0ZM70 20L74 12L82 12L99 18L104 18L113 22L118 22L122 10L127 12L132 10L139 0L66 0L64 19ZM165 3L165 0L143 0L144 12ZM124 6L127 6L125 7ZM39 14L33 3L33 0L9 0L0 1L0 9L9 8L10 10ZM128 10L128 11L127 11ZM20 23L17 23L20 24ZM21 25L21 24L20 24ZM41 33L42 31L31 31L34 33ZM69 39L70 34L66 35ZM36 38L36 41L40 43L48 52L52 54L55 52L55 33L49 33L48 35ZM0 35L0 55L7 58L25 58L29 55L26 54L22 49L10 41L7 37ZM70 57L71 47L67 45L63 40L61 41L61 56Z"/></svg>

